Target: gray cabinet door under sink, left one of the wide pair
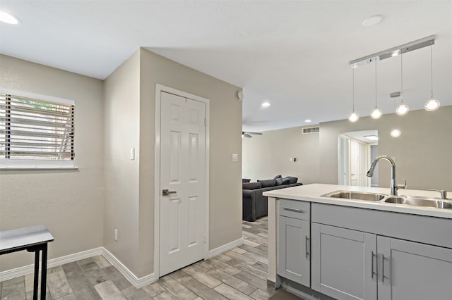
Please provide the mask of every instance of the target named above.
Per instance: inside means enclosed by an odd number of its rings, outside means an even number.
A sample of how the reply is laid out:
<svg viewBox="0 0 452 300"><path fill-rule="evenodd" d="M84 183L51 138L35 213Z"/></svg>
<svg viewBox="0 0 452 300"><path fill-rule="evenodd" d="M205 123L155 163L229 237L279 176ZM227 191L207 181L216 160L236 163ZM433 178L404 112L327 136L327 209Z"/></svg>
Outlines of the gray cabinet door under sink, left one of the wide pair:
<svg viewBox="0 0 452 300"><path fill-rule="evenodd" d="M312 286L335 299L376 299L376 235L311 223Z"/></svg>

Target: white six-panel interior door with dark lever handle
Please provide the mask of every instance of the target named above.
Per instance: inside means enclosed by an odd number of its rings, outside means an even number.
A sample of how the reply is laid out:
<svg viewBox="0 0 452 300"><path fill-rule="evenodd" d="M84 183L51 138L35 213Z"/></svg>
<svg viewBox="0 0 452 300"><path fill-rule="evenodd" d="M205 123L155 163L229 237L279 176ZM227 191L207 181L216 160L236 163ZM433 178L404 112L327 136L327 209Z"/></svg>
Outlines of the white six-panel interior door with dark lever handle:
<svg viewBox="0 0 452 300"><path fill-rule="evenodd" d="M160 99L162 276L205 256L206 104L166 92Z"/></svg>

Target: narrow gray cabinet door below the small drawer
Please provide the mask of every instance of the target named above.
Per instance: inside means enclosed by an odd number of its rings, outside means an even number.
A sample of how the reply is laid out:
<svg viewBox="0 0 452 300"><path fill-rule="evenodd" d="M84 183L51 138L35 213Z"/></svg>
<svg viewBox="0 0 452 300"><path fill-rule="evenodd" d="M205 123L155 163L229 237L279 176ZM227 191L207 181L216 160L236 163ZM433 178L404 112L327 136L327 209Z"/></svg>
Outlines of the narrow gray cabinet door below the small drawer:
<svg viewBox="0 0 452 300"><path fill-rule="evenodd" d="M311 285L309 225L280 215L278 274L307 287Z"/></svg>

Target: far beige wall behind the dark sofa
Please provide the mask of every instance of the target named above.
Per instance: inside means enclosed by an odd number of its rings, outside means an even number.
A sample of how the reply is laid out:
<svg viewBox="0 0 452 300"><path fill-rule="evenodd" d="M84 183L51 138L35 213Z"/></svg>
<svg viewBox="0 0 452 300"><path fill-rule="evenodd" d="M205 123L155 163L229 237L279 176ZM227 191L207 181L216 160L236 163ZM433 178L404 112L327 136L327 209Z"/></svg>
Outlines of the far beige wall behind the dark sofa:
<svg viewBox="0 0 452 300"><path fill-rule="evenodd" d="M255 182L281 174L304 184L320 182L319 133L303 135L302 127L294 127L244 137L242 143L244 178Z"/></svg>

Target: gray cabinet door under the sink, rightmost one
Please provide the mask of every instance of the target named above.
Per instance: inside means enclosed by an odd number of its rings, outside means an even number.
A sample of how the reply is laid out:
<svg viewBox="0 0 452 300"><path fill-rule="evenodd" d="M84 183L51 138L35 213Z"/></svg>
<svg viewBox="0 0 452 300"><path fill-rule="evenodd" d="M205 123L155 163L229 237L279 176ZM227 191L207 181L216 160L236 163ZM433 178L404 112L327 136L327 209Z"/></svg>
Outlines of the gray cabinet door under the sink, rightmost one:
<svg viewBox="0 0 452 300"><path fill-rule="evenodd" d="M379 300L452 299L452 249L389 237L377 243Z"/></svg>

